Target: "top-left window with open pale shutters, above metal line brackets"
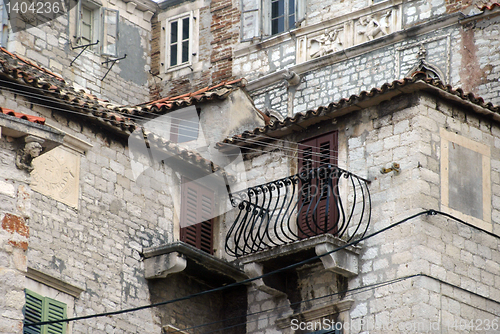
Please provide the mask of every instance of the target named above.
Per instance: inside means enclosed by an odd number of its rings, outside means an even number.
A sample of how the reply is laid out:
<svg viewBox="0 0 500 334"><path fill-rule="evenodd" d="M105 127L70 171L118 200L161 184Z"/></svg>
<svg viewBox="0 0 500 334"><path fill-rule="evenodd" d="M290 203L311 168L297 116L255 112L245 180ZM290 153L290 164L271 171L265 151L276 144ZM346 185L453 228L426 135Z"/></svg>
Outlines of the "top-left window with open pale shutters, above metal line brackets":
<svg viewBox="0 0 500 334"><path fill-rule="evenodd" d="M118 56L119 12L100 8L90 2L78 2L76 19L76 43L78 45L99 44L93 48L106 56Z"/></svg>

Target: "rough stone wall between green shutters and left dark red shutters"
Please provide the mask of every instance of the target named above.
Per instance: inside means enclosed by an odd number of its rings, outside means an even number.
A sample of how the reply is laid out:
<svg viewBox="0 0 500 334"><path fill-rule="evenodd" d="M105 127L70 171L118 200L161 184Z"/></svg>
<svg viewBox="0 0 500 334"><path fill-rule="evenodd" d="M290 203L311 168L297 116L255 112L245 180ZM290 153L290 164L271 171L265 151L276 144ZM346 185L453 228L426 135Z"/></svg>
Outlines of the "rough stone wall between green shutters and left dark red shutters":
<svg viewBox="0 0 500 334"><path fill-rule="evenodd" d="M149 304L141 252L174 238L171 172L155 166L136 180L126 142L38 111L93 147L81 157L78 209L33 193L28 266L84 289L75 316ZM72 332L160 333L159 324L142 310L75 322Z"/></svg>

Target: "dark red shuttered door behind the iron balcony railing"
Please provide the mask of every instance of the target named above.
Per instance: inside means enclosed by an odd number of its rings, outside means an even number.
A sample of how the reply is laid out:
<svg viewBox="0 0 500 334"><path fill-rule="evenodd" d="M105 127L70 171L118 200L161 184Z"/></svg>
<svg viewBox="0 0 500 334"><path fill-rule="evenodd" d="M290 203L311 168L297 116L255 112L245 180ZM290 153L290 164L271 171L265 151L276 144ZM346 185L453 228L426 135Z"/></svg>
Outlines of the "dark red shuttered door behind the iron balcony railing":
<svg viewBox="0 0 500 334"><path fill-rule="evenodd" d="M299 144L300 171L309 171L338 164L338 132L307 139ZM335 200L337 180L315 177L299 182L300 212L297 216L300 238L337 231L338 208Z"/></svg>

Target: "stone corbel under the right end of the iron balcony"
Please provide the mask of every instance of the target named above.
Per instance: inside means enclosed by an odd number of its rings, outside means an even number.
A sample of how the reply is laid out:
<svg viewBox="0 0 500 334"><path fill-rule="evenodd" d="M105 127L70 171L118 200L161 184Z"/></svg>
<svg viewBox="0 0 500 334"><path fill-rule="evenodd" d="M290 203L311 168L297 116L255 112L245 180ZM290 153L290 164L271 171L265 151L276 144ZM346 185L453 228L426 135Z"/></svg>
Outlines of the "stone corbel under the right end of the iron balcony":
<svg viewBox="0 0 500 334"><path fill-rule="evenodd" d="M336 246L330 243L319 244L314 248L318 256L327 254L320 258L326 270L345 277L357 276L359 273L358 255L347 249L333 252L335 249Z"/></svg>

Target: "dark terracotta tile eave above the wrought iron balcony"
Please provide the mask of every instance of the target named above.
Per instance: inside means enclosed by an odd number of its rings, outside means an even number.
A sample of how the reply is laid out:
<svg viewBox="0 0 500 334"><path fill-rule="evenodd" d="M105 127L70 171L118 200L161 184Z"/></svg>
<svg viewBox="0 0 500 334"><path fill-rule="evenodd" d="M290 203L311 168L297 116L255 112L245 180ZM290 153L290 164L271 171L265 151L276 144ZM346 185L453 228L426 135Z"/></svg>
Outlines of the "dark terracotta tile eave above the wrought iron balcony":
<svg viewBox="0 0 500 334"><path fill-rule="evenodd" d="M318 121L321 121L322 119L319 119L319 117L327 116L341 110L360 110L363 108L363 102L365 101L376 97L382 97L384 94L391 92L398 95L402 94L405 87L410 87L419 82L423 83L423 85L416 89L433 90L451 94L452 96L457 97L460 101L472 103L477 107L488 109L492 113L497 114L500 120L499 106L495 106L490 102L485 103L481 97L478 97L473 93L466 93L461 88L455 89L439 80L431 79L423 72L415 72L410 78L395 80L392 83L385 83L381 87L372 88L370 91L362 91L358 95L351 95L349 98L343 98L337 102L332 102L328 106L321 106L315 110L297 113L293 117L285 118L283 121L272 121L269 125L258 127L254 130L245 131L239 135L226 138L222 142L217 143L216 147L219 149L231 148L235 145L245 147L252 145L252 142L262 143L261 141L263 140L272 140L274 137L278 138L293 132L294 130L291 130L291 128L295 125L299 125L306 121L313 121L315 118L318 118ZM300 131L301 129L303 129L303 127L296 128L295 130ZM271 132L273 132L273 136L270 136Z"/></svg>

